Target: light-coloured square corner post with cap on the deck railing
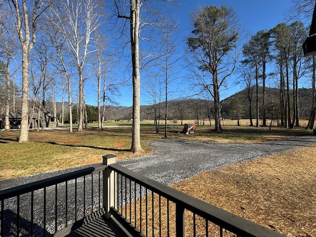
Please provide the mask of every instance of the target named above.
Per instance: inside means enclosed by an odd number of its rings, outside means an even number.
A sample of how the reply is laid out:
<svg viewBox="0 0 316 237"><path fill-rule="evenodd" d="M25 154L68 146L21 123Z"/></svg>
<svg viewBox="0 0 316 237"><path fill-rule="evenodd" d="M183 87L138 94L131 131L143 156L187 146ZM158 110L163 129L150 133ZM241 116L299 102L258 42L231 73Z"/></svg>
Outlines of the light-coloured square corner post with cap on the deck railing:
<svg viewBox="0 0 316 237"><path fill-rule="evenodd" d="M117 162L117 157L115 155L103 156L103 164L109 166L110 164L115 164ZM103 207L105 209L105 217L110 218L110 208L116 207L117 203L117 180L115 172L107 167L103 171Z"/></svg>

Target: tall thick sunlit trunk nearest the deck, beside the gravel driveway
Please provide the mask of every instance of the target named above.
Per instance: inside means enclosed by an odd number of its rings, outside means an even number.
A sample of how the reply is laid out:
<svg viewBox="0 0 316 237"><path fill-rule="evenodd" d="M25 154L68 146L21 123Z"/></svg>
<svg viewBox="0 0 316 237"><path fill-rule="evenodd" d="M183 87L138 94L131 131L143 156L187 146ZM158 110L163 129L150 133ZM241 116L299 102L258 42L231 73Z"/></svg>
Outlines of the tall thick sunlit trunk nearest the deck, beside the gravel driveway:
<svg viewBox="0 0 316 237"><path fill-rule="evenodd" d="M140 2L130 0L130 36L133 79L133 128L132 128L132 153L142 151L140 144L140 71L139 71L139 24Z"/></svg>

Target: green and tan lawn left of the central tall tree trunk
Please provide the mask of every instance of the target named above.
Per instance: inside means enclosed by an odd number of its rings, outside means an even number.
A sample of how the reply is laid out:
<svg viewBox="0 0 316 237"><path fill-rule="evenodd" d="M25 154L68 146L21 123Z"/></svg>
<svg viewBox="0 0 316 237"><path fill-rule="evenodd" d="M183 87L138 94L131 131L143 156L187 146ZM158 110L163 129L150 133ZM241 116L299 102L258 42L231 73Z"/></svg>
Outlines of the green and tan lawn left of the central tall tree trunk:
<svg viewBox="0 0 316 237"><path fill-rule="evenodd" d="M0 132L0 180L100 163L107 154L118 159L135 157L129 152L128 129L88 129L71 134L66 130L30 131L29 142L21 144L17 143L18 136L18 131ZM138 156L153 151L142 145L144 151Z"/></svg>

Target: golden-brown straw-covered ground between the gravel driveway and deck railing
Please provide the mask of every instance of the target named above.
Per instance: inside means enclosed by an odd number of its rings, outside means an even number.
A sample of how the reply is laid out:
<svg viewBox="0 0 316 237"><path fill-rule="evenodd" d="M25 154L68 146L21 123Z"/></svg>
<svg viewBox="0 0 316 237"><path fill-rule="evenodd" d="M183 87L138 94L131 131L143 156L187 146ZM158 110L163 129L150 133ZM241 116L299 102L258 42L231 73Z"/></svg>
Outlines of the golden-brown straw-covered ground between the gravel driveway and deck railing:
<svg viewBox="0 0 316 237"><path fill-rule="evenodd" d="M316 147L302 147L276 153L252 161L227 165L203 172L196 177L173 184L171 187L207 203L232 212L287 237L316 236ZM159 207L159 199L161 206ZM154 194L147 197L148 220L151 226L154 203L154 236L175 236L171 221L167 226L167 202ZM140 202L136 205L139 207ZM146 230L145 198L142 205L142 232ZM127 217L134 220L134 203L126 207ZM139 218L140 213L136 213ZM159 209L161 212L159 213ZM169 202L169 220L175 219L174 204ZM125 208L122 209L125 215ZM159 231L159 215L161 230ZM193 215L186 211L186 236L193 236ZM140 222L136 223L140 229ZM205 220L196 217L196 236L205 236ZM161 233L159 233L161 232ZM219 228L208 223L209 236L219 236ZM224 236L234 236L224 232Z"/></svg>

